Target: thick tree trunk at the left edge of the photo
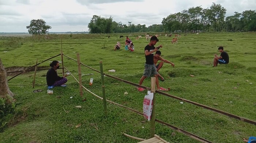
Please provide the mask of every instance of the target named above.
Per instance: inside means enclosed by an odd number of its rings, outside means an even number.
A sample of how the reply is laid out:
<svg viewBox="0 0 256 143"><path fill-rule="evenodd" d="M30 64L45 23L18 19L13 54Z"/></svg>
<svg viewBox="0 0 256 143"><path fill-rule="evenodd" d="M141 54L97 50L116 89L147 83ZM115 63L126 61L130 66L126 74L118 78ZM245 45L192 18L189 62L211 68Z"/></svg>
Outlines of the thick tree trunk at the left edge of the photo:
<svg viewBox="0 0 256 143"><path fill-rule="evenodd" d="M11 103L13 99L13 93L10 91L7 83L7 73L4 69L3 63L0 58L0 98L5 99Z"/></svg>

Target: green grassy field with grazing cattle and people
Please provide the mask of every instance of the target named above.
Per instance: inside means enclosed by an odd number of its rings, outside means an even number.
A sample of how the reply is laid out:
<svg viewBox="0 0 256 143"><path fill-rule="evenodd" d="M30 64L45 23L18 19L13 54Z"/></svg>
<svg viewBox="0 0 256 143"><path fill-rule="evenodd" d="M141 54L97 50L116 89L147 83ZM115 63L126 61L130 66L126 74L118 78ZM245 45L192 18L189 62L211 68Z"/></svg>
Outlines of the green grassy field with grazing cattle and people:
<svg viewBox="0 0 256 143"><path fill-rule="evenodd" d="M110 39L108 35L89 34L0 37L0 58L5 68L30 67L36 59L41 62L59 54L62 38L65 55L76 59L76 53L80 53L80 61L97 70L102 60L105 73L138 83L144 71L144 47L149 41L131 36L135 51L128 52L124 50L125 39L119 39L119 36L111 35ZM171 38L160 36L157 45L163 45L160 49L162 57L175 64L175 67L163 65L159 73L165 81L160 82L160 86L170 87L168 94L256 120L255 39L256 33L199 33L181 35L178 44L172 44ZM113 51L117 41L122 48ZM219 46L229 53L230 62L212 67L214 54L220 55ZM61 61L61 57L52 60ZM40 67L49 67L49 61ZM75 61L64 57L64 66L78 78ZM116 72L108 72L109 69ZM37 72L36 84L46 84L46 72ZM90 73L93 75L82 76L83 86L102 96L100 74L82 67L82 74ZM61 70L58 74L61 75ZM32 88L33 76L34 72L29 72L8 82L15 94L16 107L15 113L6 118L10 121L0 133L1 143L138 142L125 137L123 132L149 138L150 124L143 116L107 103L108 118L105 118L102 100L84 91L83 98L87 101L83 102L72 76L67 77L66 88L53 88L53 95L46 94L46 85ZM93 86L89 86L91 77L94 78ZM105 86L108 100L143 112L146 91L139 92L129 84L109 77L105 77ZM150 78L144 80L143 86L150 87ZM43 91L34 93L37 89ZM156 118L214 143L243 143L242 138L256 136L255 125L180 102L157 94ZM75 107L78 105L82 108ZM77 124L82 125L76 128ZM198 143L159 123L156 123L156 134L170 143Z"/></svg>

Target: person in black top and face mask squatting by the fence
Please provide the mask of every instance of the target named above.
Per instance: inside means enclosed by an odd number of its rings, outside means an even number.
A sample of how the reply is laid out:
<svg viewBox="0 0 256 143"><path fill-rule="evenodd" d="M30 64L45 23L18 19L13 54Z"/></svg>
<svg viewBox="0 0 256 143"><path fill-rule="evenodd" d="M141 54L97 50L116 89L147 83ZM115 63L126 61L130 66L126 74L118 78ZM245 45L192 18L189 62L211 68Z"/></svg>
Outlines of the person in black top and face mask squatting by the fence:
<svg viewBox="0 0 256 143"><path fill-rule="evenodd" d="M52 61L52 63L50 63L50 67L51 68L48 70L46 74L46 82L48 85L48 89L53 88L54 86L66 87L65 83L68 80L65 77L68 75L65 75L63 77L57 75L57 69L60 68L59 61Z"/></svg>

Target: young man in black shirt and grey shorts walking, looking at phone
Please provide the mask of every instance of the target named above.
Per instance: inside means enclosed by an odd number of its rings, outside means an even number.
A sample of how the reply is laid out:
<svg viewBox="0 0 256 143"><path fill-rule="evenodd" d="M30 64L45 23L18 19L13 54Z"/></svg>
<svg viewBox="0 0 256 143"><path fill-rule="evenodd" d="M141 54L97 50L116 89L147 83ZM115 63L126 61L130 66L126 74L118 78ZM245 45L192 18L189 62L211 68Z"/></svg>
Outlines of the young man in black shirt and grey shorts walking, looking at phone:
<svg viewBox="0 0 256 143"><path fill-rule="evenodd" d="M159 40L157 39L156 36L152 36L150 38L149 44L146 45L146 47L144 48L146 64L145 64L143 76L141 77L139 84L142 85L144 79L146 79L148 76L154 75L156 78L155 83L157 84L157 90L166 91L165 88L162 88L159 86L157 68L155 68L155 64L154 64L153 53L157 51L160 47L162 47L162 45L159 45L157 48L154 47L154 45L157 44L158 41ZM138 90L143 91L144 88L139 87Z"/></svg>

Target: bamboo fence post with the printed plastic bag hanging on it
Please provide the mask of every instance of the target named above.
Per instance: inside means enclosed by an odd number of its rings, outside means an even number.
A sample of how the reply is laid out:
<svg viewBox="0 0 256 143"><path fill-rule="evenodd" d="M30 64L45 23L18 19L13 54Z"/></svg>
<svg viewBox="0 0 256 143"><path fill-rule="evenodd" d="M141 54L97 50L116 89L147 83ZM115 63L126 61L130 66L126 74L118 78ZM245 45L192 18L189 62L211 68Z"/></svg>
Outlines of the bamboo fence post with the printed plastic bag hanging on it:
<svg viewBox="0 0 256 143"><path fill-rule="evenodd" d="M151 77L151 93L153 93L153 106L150 120L150 138L155 135L155 77Z"/></svg>

